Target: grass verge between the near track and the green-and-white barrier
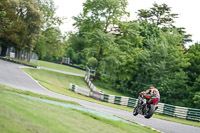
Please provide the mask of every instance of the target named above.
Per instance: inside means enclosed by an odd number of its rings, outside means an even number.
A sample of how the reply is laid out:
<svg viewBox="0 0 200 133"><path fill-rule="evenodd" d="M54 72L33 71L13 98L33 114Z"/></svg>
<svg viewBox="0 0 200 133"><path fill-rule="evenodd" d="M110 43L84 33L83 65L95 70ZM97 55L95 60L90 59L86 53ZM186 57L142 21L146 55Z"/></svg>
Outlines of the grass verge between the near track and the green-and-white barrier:
<svg viewBox="0 0 200 133"><path fill-rule="evenodd" d="M54 91L54 92L57 92L57 93L60 93L63 95L71 96L74 98L79 98L82 100L102 104L105 106L129 111L129 112L133 111L132 108L98 101L91 97L79 95L79 94L76 94L73 91L69 90L70 83L73 83L73 84L76 84L78 86L82 86L85 88L87 87L86 83L83 81L83 78L81 78L81 77L69 76L69 75L46 71L46 70L37 70L37 69L23 69L23 70L25 72L27 72L28 74L30 74L33 78L38 80L45 88L47 88L51 91ZM195 121L189 121L189 120L179 119L179 118L174 118L174 117L167 117L167 116L162 116L159 114L154 114L153 117L168 120L168 121L174 121L174 122L178 122L178 123L182 123L182 124L186 124L186 125L200 127L200 123L195 122Z"/></svg>

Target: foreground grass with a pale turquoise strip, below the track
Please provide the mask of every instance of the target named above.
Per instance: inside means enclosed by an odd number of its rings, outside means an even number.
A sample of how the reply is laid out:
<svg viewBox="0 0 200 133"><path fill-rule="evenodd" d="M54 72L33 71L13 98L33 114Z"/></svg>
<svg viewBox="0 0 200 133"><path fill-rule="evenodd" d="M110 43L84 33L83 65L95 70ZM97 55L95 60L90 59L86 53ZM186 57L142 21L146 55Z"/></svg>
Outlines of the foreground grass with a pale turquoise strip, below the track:
<svg viewBox="0 0 200 133"><path fill-rule="evenodd" d="M8 93L6 89L0 86L1 133L155 132L145 127L21 97Z"/></svg>

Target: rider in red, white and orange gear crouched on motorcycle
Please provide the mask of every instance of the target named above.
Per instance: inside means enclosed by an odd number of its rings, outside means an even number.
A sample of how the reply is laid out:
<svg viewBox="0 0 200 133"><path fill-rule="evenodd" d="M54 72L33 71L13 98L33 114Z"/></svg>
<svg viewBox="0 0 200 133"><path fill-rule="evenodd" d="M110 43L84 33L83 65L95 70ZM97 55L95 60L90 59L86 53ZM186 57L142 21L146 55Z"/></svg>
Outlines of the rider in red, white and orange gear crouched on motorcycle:
<svg viewBox="0 0 200 133"><path fill-rule="evenodd" d="M158 102L160 101L159 91L155 87L150 87L148 90L140 92L140 98L143 96L144 98L147 99L148 103L153 103L154 105L158 104ZM141 103L141 104L145 104L145 103Z"/></svg>

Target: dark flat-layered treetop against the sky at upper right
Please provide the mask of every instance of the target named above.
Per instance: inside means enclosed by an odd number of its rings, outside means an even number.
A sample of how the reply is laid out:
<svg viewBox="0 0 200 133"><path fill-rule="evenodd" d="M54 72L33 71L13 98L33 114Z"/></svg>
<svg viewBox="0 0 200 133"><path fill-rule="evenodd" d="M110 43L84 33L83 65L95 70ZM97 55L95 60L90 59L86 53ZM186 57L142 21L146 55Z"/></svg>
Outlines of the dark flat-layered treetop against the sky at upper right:
<svg viewBox="0 0 200 133"><path fill-rule="evenodd" d="M138 10L138 21L139 22L147 22L152 24L156 24L163 31L170 30L173 32L173 29L176 28L183 36L182 44L186 44L188 42L192 42L191 34L187 34L185 28L178 28L174 26L175 19L178 18L178 14L171 13L171 7L166 4L158 5L157 3L153 4L153 7L150 9L141 9ZM145 26L146 27L146 26Z"/></svg>

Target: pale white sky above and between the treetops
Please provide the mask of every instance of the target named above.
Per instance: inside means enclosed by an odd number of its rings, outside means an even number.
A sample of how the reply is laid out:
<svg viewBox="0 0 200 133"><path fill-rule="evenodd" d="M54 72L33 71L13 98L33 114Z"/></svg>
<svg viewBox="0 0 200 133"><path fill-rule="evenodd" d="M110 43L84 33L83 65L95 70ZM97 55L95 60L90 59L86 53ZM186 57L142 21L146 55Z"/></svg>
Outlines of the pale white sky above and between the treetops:
<svg viewBox="0 0 200 133"><path fill-rule="evenodd" d="M62 32L75 31L72 16L82 12L82 4L86 0L54 0L57 6L56 15L66 17L64 24L60 27ZM149 9L153 3L167 4L172 13L179 14L175 19L175 26L185 27L188 34L192 34L193 43L200 42L200 0L128 0L127 11L130 12L129 20L136 20L136 12L139 9Z"/></svg>

